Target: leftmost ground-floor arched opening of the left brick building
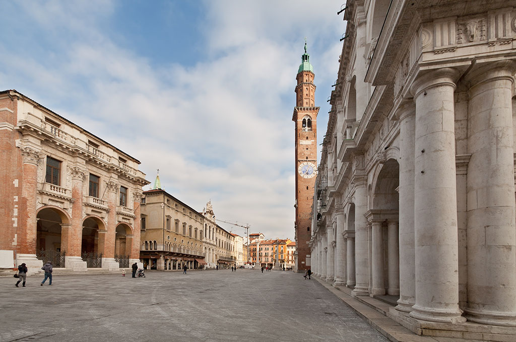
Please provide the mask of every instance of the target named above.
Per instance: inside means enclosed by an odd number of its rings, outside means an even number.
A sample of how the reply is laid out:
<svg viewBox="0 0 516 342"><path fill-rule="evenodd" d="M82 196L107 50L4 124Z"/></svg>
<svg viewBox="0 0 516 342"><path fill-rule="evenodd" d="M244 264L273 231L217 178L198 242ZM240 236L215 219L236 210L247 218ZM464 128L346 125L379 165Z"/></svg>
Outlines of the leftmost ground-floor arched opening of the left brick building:
<svg viewBox="0 0 516 342"><path fill-rule="evenodd" d="M69 226L69 217L59 208L43 207L36 215L36 256L43 263L65 267L66 251L62 244L62 226Z"/></svg>

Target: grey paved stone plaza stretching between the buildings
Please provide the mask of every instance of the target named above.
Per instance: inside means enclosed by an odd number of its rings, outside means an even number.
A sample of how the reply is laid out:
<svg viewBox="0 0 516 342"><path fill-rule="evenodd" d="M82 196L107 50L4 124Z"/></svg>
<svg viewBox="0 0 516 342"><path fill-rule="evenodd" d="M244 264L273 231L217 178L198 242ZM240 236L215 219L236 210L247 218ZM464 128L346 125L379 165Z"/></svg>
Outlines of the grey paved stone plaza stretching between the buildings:
<svg viewBox="0 0 516 342"><path fill-rule="evenodd" d="M315 280L293 272L148 271L0 278L0 341L386 341Z"/></svg>

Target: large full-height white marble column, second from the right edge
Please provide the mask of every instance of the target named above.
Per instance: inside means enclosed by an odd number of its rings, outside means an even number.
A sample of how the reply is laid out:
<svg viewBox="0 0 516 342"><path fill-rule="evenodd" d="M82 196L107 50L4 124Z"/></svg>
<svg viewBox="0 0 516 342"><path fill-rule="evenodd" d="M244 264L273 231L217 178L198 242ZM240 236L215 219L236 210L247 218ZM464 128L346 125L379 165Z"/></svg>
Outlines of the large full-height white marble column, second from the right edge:
<svg viewBox="0 0 516 342"><path fill-rule="evenodd" d="M463 322L459 309L454 91L458 72L430 71L414 82L416 319Z"/></svg>

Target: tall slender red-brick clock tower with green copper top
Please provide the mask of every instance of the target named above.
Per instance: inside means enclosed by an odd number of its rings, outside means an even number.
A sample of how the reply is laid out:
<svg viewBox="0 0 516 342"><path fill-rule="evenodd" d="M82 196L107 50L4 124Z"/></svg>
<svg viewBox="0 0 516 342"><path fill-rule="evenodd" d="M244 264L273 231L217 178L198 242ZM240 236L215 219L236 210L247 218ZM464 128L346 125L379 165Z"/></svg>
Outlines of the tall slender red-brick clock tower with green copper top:
<svg viewBox="0 0 516 342"><path fill-rule="evenodd" d="M304 43L304 54L297 72L296 107L292 121L296 124L296 270L310 268L312 203L317 173L317 113L315 107L314 70Z"/></svg>

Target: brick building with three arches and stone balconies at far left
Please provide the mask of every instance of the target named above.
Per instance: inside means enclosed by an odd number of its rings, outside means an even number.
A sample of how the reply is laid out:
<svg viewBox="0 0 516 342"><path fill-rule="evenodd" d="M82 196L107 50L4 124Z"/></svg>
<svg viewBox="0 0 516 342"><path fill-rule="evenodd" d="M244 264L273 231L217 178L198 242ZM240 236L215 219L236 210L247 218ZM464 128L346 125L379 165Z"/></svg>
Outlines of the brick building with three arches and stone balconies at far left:
<svg viewBox="0 0 516 342"><path fill-rule="evenodd" d="M0 267L139 261L140 162L15 90L0 92Z"/></svg>

